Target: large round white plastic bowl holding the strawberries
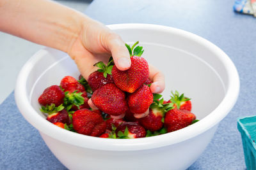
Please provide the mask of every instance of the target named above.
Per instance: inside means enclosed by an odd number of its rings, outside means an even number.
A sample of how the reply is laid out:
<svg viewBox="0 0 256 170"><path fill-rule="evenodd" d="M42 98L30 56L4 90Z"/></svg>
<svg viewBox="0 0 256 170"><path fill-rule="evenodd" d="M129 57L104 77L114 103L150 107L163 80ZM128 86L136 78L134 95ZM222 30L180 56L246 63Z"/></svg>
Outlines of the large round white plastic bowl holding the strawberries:
<svg viewBox="0 0 256 170"><path fill-rule="evenodd" d="M66 131L51 124L38 97L67 75L77 77L66 53L45 48L20 71L15 99L22 115L40 132L52 153L68 169L186 169L205 150L220 121L236 103L239 76L229 57L211 42L180 29L149 24L116 24L110 29L125 42L140 41L143 57L166 76L164 97L171 90L192 98L200 119L179 131L140 139L104 139Z"/></svg>

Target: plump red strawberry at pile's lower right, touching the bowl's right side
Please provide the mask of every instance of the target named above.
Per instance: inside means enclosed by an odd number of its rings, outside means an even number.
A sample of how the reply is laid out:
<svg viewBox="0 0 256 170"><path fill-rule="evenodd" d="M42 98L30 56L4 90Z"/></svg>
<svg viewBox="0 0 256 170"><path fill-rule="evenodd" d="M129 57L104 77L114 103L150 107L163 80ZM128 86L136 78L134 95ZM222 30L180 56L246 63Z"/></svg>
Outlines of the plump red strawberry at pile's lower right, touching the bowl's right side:
<svg viewBox="0 0 256 170"><path fill-rule="evenodd" d="M164 127L168 132L177 131L191 125L196 116L188 110L173 109L164 117Z"/></svg>

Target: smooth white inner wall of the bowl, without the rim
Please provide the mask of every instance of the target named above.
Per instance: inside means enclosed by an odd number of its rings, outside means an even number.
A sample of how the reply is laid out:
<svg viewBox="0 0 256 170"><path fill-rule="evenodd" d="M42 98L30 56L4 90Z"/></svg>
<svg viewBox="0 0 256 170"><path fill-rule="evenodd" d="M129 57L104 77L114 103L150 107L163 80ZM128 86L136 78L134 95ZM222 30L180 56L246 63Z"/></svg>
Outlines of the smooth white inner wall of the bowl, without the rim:
<svg viewBox="0 0 256 170"><path fill-rule="evenodd" d="M127 43L132 44L140 40L139 45L145 50L142 56L149 64L164 73L166 81L164 99L170 99L171 91L178 90L185 96L191 97L192 111L198 119L201 120L209 115L225 97L224 82L227 80L223 80L226 78L225 70L221 73L216 70L223 65L218 56L198 43L188 43L188 39L184 37L176 39L177 35L173 37L172 34L164 34L156 30L143 31L143 34L139 34L141 31L143 30L124 29L117 32ZM188 47L189 49L186 50ZM39 58L35 62L36 70L31 71L28 81L32 87L29 94L31 104L42 115L37 99L43 90L50 85L60 85L64 76L78 78L79 71L74 61L65 53L51 49L45 52L44 57ZM37 67L39 65L40 68Z"/></svg>

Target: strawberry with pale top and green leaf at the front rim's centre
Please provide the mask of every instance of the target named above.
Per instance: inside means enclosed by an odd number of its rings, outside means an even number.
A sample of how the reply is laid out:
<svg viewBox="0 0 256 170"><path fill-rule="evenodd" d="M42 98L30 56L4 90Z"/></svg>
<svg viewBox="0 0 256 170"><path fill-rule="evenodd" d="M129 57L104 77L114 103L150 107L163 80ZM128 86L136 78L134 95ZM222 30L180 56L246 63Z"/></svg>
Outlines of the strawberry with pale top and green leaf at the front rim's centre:
<svg viewBox="0 0 256 170"><path fill-rule="evenodd" d="M124 122L116 128L118 138L144 138L145 129L136 122Z"/></svg>

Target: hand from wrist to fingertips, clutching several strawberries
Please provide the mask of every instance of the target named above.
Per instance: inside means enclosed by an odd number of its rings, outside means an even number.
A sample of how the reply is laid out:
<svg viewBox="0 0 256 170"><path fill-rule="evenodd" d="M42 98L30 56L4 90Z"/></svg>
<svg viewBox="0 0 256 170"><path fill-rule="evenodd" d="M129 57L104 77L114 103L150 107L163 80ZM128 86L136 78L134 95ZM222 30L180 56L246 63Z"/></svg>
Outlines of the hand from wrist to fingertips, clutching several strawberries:
<svg viewBox="0 0 256 170"><path fill-rule="evenodd" d="M113 57L116 67L122 71L129 69L131 59L124 41L115 32L108 29L99 22L90 21L83 24L81 32L74 41L72 48L68 52L74 59L83 77L87 80L88 76L97 67L93 64L99 61L108 63L109 57ZM156 67L149 65L149 78L153 81L150 90L153 93L161 93L164 90L164 75ZM88 101L90 107L97 109L91 100ZM145 117L148 111L143 114L135 115L136 118Z"/></svg>

